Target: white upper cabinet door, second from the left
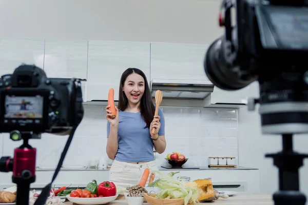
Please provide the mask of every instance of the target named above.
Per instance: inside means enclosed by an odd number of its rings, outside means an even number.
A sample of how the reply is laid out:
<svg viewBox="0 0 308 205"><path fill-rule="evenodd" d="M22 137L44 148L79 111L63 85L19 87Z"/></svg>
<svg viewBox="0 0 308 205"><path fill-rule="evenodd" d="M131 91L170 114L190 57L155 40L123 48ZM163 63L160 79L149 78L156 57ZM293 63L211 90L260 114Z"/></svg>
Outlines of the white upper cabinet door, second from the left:
<svg viewBox="0 0 308 205"><path fill-rule="evenodd" d="M47 77L87 79L88 41L46 39L44 71ZM86 81L82 81L86 101Z"/></svg>

